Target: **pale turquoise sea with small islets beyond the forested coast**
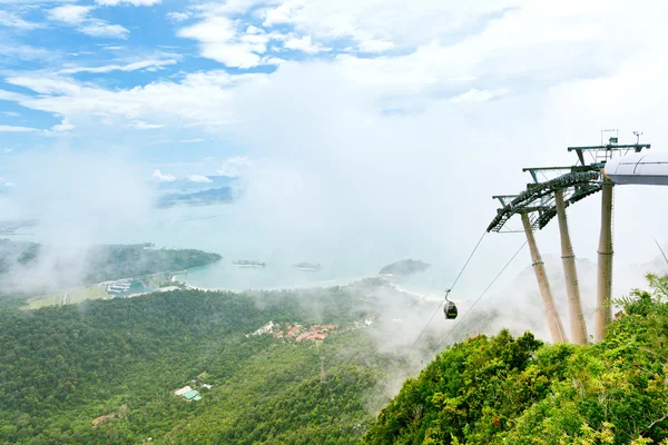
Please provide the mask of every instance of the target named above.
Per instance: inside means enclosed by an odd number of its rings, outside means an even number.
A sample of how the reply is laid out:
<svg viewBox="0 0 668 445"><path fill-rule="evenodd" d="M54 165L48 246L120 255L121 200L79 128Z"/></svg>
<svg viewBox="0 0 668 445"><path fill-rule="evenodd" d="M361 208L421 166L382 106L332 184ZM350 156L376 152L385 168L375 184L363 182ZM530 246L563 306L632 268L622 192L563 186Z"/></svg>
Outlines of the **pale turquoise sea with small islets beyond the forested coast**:
<svg viewBox="0 0 668 445"><path fill-rule="evenodd" d="M127 224L114 222L95 227L86 236L77 234L68 240L82 244L154 243L156 248L196 248L223 256L215 264L189 269L179 276L189 285L229 290L278 289L343 285L364 277L377 276L385 265L405 258L422 259L432 267L402 280L415 291L442 294L452 279L439 251L415 249L410 237L383 234L380 227L354 230L317 229L307 225L273 225L271 218L258 218L237 205L191 208L153 209ZM12 239L57 244L46 227L31 228L31 234ZM233 260L266 263L265 268L235 267ZM322 264L322 270L305 271L298 263Z"/></svg>

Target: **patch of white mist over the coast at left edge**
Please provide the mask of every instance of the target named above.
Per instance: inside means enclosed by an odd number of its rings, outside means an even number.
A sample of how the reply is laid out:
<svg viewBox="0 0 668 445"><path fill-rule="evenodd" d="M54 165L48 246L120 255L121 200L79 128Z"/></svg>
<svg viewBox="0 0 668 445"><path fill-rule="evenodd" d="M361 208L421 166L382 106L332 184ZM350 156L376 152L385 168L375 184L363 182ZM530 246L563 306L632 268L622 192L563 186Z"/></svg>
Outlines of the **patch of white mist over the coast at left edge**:
<svg viewBox="0 0 668 445"><path fill-rule="evenodd" d="M53 148L18 156L12 167L20 179L0 201L0 215L3 220L35 219L36 227L12 239L42 246L29 264L10 258L3 294L82 286L91 247L110 228L146 220L154 206L154 190L136 165L118 155Z"/></svg>

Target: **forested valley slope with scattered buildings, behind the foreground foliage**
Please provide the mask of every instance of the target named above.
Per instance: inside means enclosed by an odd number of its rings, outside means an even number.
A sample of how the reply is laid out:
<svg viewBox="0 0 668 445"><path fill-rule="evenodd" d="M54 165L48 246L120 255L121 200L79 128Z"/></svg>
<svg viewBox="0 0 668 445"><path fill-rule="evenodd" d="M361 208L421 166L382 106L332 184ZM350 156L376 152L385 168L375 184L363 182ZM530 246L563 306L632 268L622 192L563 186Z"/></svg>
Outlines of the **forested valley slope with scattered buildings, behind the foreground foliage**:
<svg viewBox="0 0 668 445"><path fill-rule="evenodd" d="M358 290L175 290L0 313L0 444L355 443L402 366L365 336L374 299ZM268 320L337 327L321 342L248 335ZM184 385L202 400L176 396Z"/></svg>

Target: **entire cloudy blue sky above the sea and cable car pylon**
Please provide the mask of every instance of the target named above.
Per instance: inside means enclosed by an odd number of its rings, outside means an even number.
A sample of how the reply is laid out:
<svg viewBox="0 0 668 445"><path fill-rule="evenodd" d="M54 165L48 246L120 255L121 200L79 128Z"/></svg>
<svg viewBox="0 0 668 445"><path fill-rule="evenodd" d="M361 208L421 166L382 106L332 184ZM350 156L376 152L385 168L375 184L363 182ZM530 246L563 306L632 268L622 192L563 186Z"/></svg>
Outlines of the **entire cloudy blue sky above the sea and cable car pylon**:
<svg viewBox="0 0 668 445"><path fill-rule="evenodd" d="M521 167L571 162L566 147L598 142L601 128L668 145L667 9L0 0L0 212L69 202L89 215L146 181L232 174L247 185L248 219L272 230L382 227L385 238L468 251L479 236L469 225L493 215L490 196L525 186ZM644 199L619 194L621 233ZM658 229L668 210L655 210L646 219ZM576 211L583 245L596 238L596 202Z"/></svg>

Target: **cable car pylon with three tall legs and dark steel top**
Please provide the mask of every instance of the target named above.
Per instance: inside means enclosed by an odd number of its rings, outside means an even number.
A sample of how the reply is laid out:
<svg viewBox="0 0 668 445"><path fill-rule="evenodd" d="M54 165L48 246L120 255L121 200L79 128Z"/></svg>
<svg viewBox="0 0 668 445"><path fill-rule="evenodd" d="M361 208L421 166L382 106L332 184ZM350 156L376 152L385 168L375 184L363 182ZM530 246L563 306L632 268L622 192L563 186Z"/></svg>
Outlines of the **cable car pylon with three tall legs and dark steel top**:
<svg viewBox="0 0 668 445"><path fill-rule="evenodd" d="M639 135L636 134L636 136ZM546 305L548 325L556 343L567 339L566 335L560 334L562 328L559 327L559 314L553 306L551 289L544 276L544 266L538 253L533 230L542 229L554 216L558 217L561 258L569 301L571 340L584 345L588 339L587 324L582 312L576 257L570 241L566 208L597 191L602 191L593 329L595 340L602 340L612 319L612 187L615 184L668 185L668 169L656 167L656 165L668 164L668 160L661 162L664 158L668 158L667 156L662 158L658 156L651 162L645 162L647 168L641 168L645 167L644 160L648 156L640 155L640 152L650 147L649 144L639 144L639 140L636 140L633 145L620 145L617 136L611 137L609 142L603 145L601 132L600 146L568 147L568 151L574 151L578 156L578 164L568 167L524 168L523 171L531 174L533 184L527 185L527 189L518 195L493 196L501 201L501 208L497 210L497 216L488 226L488 231L518 231L508 229L507 222L514 215L521 215L523 229L531 247L534 271ZM631 151L633 155L626 156ZM591 164L586 162L584 155L591 155ZM616 157L617 155L621 155L621 157ZM546 176L546 171L559 170L562 172L561 176L552 179ZM537 172L544 176L544 182L538 180ZM537 268L537 266L540 267Z"/></svg>

